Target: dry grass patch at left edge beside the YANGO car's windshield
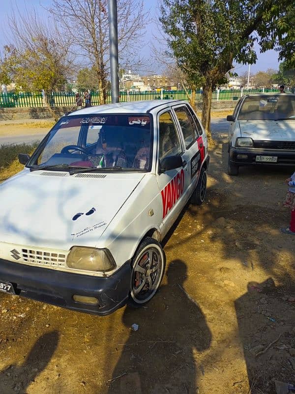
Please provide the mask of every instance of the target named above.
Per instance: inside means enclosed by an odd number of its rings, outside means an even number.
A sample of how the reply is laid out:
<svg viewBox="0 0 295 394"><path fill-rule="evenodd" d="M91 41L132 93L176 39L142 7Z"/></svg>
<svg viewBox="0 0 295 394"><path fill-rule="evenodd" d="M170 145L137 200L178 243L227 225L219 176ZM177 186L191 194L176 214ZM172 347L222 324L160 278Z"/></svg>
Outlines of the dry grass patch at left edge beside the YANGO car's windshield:
<svg viewBox="0 0 295 394"><path fill-rule="evenodd" d="M19 153L31 155L37 145L37 142L32 144L0 145L0 182L21 171L24 165L18 161Z"/></svg>

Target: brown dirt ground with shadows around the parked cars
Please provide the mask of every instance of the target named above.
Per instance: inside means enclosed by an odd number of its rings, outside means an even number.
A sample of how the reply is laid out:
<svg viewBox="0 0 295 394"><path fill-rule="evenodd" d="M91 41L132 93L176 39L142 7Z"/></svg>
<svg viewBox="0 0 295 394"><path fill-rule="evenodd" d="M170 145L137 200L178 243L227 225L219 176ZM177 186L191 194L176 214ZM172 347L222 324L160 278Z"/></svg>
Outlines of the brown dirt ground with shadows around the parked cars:
<svg viewBox="0 0 295 394"><path fill-rule="evenodd" d="M219 133L206 202L188 205L166 239L166 274L143 308L96 317L0 294L0 393L272 394L275 380L295 384L295 238L280 232L291 172L228 176Z"/></svg>

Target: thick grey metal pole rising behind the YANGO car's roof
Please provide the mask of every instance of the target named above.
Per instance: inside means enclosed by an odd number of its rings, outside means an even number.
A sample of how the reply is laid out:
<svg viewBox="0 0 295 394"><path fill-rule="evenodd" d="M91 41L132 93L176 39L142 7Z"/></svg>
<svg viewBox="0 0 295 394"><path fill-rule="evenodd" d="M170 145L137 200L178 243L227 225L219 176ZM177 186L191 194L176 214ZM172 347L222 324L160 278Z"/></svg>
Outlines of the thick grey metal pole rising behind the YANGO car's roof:
<svg viewBox="0 0 295 394"><path fill-rule="evenodd" d="M108 0L112 102L119 102L118 17L117 0Z"/></svg>

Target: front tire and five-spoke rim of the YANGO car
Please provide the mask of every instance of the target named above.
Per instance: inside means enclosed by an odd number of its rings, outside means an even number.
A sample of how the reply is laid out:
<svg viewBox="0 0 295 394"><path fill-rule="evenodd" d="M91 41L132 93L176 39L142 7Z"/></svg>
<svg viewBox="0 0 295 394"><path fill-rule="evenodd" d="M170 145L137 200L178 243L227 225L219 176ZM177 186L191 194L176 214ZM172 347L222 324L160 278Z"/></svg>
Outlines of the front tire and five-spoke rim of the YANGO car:
<svg viewBox="0 0 295 394"><path fill-rule="evenodd" d="M165 266L166 256L161 244L153 238L145 238L132 259L129 305L140 307L156 294Z"/></svg>

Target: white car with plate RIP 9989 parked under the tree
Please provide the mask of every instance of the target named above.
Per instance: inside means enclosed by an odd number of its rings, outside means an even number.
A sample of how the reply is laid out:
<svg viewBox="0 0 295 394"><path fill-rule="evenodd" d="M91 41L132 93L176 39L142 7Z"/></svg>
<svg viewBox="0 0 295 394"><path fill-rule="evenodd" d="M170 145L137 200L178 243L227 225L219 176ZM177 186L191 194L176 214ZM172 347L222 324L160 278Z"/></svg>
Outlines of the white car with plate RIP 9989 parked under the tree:
<svg viewBox="0 0 295 394"><path fill-rule="evenodd" d="M244 96L227 120L230 175L242 165L295 165L295 95Z"/></svg>

